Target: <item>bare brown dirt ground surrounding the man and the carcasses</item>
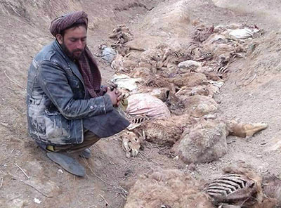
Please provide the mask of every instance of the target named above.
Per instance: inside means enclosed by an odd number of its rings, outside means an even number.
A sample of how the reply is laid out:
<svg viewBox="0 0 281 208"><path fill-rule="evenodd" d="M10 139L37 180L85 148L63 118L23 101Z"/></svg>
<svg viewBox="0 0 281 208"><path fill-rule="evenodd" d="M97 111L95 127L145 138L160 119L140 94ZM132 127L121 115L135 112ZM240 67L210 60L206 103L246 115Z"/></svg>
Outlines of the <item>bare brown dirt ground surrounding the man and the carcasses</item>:
<svg viewBox="0 0 281 208"><path fill-rule="evenodd" d="M242 0L241 0L242 1ZM1 0L0 1L0 207L124 207L126 191L139 174L155 167L187 171L209 180L230 164L250 164L261 174L281 176L280 152L266 151L281 136L281 64L278 1L179 1L179 0ZM185 13L173 16L178 6ZM175 46L190 39L190 21L207 25L231 23L257 25L265 33L254 40L256 48L229 66L229 76L215 100L219 113L242 122L266 122L268 129L246 141L228 137L228 153L220 160L190 169L165 146L146 142L136 158L126 158L117 136L103 138L91 150L93 157L79 162L86 177L77 178L54 164L27 135L25 86L33 56L53 40L50 21L69 11L89 14L88 45L110 44L110 32L125 24L138 37L132 44L148 48L165 41ZM186 27L183 27L183 26ZM151 41L151 37L155 37ZM97 57L103 79L114 70ZM40 204L37 200L40 201ZM35 201L34 201L35 200Z"/></svg>

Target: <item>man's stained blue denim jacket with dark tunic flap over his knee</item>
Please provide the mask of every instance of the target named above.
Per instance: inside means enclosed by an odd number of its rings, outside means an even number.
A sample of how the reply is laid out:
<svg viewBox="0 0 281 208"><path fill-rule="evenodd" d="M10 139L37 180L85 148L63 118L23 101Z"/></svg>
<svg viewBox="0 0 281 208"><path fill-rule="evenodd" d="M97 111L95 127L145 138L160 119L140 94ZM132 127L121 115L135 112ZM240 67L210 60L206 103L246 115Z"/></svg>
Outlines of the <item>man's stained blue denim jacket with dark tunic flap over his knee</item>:
<svg viewBox="0 0 281 208"><path fill-rule="evenodd" d="M30 136L45 145L82 143L84 123L100 137L129 125L113 108L110 96L90 98L77 65L65 56L58 41L32 60L26 102Z"/></svg>

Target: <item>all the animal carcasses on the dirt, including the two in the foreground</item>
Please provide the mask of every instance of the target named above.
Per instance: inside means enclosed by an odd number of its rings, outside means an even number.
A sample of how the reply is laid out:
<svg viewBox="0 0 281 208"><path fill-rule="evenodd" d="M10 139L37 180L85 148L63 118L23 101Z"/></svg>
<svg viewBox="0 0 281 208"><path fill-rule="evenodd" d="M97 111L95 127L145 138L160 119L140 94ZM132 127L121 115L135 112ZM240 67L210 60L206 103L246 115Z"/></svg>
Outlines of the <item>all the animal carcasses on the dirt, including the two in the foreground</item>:
<svg viewBox="0 0 281 208"><path fill-rule="evenodd" d="M110 35L115 43L100 49L102 58L116 70L110 82L126 95L123 108L131 125L120 135L126 157L136 157L148 141L171 147L176 159L187 164L212 162L228 152L228 135L249 138L266 129L264 123L224 119L214 99L228 77L230 63L251 53L247 39L262 32L256 26L197 23L187 46L160 44L145 50L128 44L133 35L128 27L118 25ZM179 170L152 171L138 178L125 207L273 207L281 203L275 197L280 186L266 195L260 176L239 170L226 171L204 190Z"/></svg>

